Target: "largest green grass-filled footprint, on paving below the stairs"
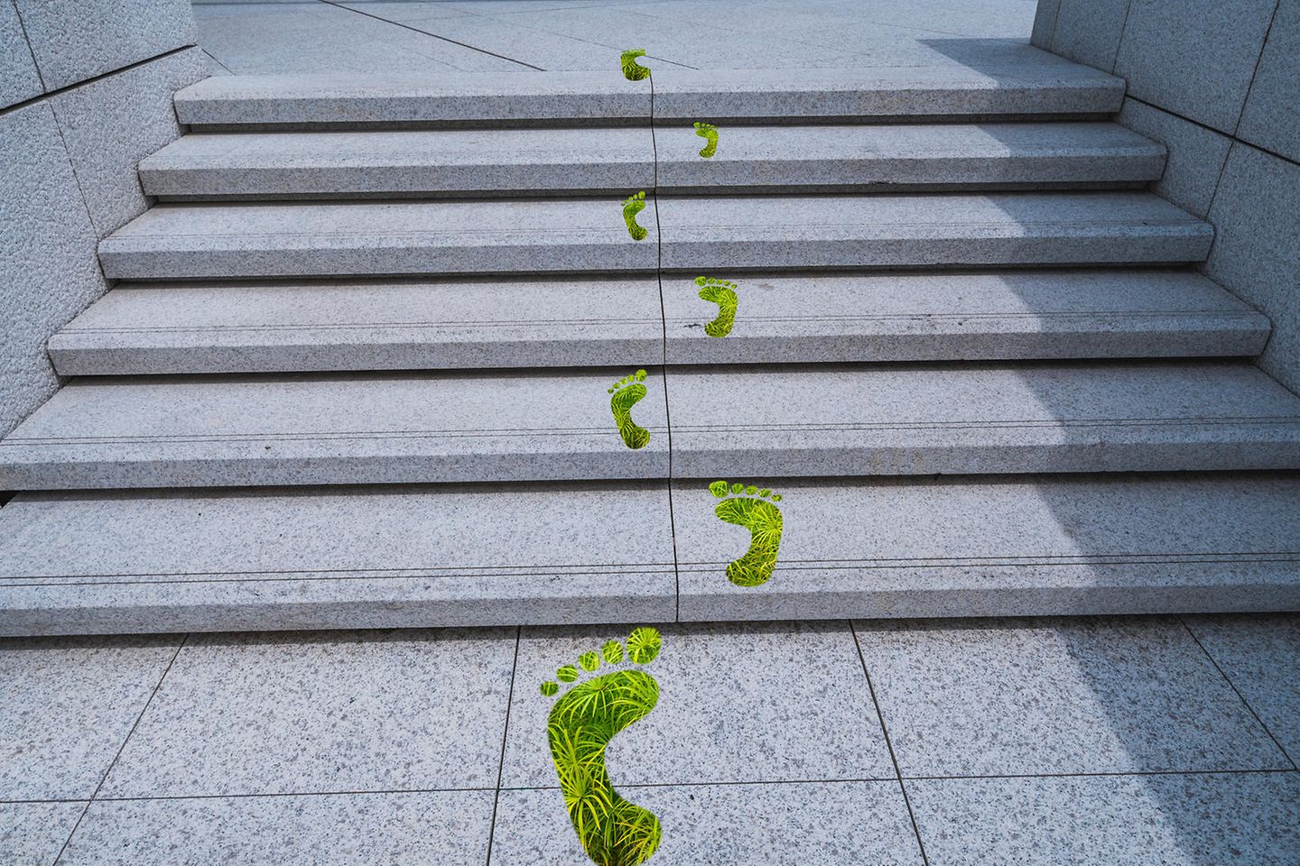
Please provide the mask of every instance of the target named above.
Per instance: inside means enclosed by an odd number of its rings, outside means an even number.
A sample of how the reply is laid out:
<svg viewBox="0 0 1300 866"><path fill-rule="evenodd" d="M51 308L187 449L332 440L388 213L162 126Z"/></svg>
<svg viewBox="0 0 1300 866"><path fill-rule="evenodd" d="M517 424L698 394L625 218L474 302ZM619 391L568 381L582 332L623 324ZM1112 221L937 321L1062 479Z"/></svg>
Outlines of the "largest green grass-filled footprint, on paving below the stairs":
<svg viewBox="0 0 1300 866"><path fill-rule="evenodd" d="M654 628L634 628L628 636L627 658L634 665L649 665L659 654L663 639ZM585 671L623 662L623 645L611 640L578 657ZM560 683L578 678L573 665L555 671ZM552 697L559 683L542 683L542 695ZM662 830L653 811L628 802L614 789L604 767L604 749L610 741L640 722L659 702L659 683L641 670L616 670L575 686L555 701L546 719L546 736L551 760L564 792L573 831L582 850L601 866L637 866L650 860L659 848Z"/></svg>

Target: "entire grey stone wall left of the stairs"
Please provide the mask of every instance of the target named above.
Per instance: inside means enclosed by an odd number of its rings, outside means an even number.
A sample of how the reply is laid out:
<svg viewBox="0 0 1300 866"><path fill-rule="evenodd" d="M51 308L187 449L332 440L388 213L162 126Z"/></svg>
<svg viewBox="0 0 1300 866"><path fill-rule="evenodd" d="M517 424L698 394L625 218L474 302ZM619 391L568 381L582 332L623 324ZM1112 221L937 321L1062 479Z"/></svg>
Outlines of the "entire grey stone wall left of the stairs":
<svg viewBox="0 0 1300 866"><path fill-rule="evenodd" d="M188 0L0 0L0 436L57 388L46 341L108 290L99 239L207 75Z"/></svg>

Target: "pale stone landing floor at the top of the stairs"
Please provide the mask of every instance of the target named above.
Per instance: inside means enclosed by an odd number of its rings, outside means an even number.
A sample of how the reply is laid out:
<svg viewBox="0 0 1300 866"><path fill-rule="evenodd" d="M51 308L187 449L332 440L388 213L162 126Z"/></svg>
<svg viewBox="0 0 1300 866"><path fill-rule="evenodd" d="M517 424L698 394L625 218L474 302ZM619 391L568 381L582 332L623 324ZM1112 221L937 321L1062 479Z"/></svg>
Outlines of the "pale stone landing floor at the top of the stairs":
<svg viewBox="0 0 1300 866"><path fill-rule="evenodd" d="M195 0L214 74L935 66L1027 42L1036 0Z"/></svg>

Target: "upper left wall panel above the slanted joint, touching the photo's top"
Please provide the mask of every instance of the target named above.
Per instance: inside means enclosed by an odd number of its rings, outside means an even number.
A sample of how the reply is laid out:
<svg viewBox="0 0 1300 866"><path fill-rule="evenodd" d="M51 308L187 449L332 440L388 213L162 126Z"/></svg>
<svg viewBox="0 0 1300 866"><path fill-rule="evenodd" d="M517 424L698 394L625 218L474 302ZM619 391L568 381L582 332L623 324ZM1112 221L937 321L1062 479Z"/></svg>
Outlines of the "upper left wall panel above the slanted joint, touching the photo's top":
<svg viewBox="0 0 1300 866"><path fill-rule="evenodd" d="M46 90L195 43L190 0L16 0Z"/></svg>

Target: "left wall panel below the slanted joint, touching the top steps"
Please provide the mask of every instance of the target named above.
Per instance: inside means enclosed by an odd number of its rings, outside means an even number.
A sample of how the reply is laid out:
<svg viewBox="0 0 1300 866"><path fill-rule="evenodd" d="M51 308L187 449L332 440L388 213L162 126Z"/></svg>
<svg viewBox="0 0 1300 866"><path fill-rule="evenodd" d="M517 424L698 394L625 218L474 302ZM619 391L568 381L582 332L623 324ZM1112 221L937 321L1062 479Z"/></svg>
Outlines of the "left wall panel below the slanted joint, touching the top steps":
<svg viewBox="0 0 1300 866"><path fill-rule="evenodd" d="M51 97L99 236L144 213L136 167L181 135L172 95L207 78L188 48Z"/></svg>

